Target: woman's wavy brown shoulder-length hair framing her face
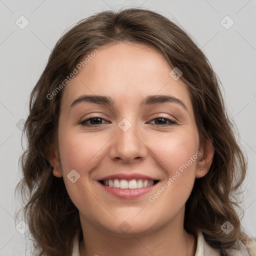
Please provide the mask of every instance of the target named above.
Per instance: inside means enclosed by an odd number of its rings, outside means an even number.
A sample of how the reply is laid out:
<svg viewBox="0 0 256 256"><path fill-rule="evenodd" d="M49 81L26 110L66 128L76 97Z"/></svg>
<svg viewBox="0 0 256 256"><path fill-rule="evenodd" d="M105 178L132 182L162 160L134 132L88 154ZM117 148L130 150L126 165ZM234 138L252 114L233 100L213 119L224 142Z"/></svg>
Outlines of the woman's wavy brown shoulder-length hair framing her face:
<svg viewBox="0 0 256 256"><path fill-rule="evenodd" d="M22 131L27 146L19 158L22 179L15 193L22 195L24 205L20 210L33 237L36 255L70 256L75 233L81 235L78 209L68 196L63 178L52 174L48 161L48 150L57 143L63 92L56 92L56 88L82 57L118 41L157 48L170 67L182 71L180 79L189 91L199 138L209 139L214 148L208 173L195 179L185 203L184 229L189 233L201 230L210 246L220 249L221 256L228 255L227 248L238 239L245 243L248 238L236 212L241 209L238 188L247 163L235 139L234 124L227 116L219 79L184 29L142 8L102 11L77 22L57 41L31 91ZM228 234L220 228L226 220L234 227Z"/></svg>

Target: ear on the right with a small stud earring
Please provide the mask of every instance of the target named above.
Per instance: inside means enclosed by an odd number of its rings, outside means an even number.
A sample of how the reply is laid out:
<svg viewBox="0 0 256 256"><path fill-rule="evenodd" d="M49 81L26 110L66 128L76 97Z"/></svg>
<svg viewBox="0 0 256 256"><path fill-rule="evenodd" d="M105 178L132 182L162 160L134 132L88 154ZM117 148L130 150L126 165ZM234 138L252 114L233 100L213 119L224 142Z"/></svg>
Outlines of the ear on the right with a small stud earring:
<svg viewBox="0 0 256 256"><path fill-rule="evenodd" d="M197 158L195 177L201 178L208 173L213 160L214 148L212 145L212 139L204 139L201 142L198 151L201 154Z"/></svg>

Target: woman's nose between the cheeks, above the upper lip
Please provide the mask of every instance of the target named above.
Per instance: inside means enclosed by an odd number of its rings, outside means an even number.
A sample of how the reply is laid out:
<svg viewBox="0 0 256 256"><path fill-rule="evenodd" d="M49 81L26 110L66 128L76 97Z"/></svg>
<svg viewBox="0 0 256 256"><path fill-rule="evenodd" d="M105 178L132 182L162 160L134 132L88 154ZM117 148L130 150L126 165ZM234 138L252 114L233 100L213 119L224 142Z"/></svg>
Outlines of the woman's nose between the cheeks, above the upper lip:
<svg viewBox="0 0 256 256"><path fill-rule="evenodd" d="M116 134L111 140L110 157L114 161L132 163L146 157L147 146L144 135L135 121L125 131L116 125Z"/></svg>

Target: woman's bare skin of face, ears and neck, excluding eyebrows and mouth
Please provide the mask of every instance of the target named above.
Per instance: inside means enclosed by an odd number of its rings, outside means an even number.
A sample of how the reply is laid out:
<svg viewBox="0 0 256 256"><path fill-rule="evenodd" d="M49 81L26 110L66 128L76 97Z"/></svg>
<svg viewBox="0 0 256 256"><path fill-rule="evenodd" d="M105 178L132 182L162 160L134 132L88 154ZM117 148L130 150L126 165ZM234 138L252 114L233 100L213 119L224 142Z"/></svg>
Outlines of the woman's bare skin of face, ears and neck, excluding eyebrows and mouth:
<svg viewBox="0 0 256 256"><path fill-rule="evenodd" d="M49 154L53 175L63 176L79 210L84 237L80 255L194 255L196 237L183 229L184 205L195 178L207 173L214 151L209 141L199 143L187 86L169 75L172 67L153 47L116 42L98 50L63 89L58 145ZM111 96L116 104L81 102L70 107L82 94ZM155 94L174 96L186 109L176 102L139 106ZM103 118L101 124L79 123L93 116ZM159 123L159 117L176 124ZM131 123L127 131L118 126L123 118ZM150 202L148 197L198 150L200 156ZM72 169L80 175L74 183L67 178ZM138 198L117 198L97 180L120 172L149 175L159 182ZM118 228L123 221L130 226L127 233Z"/></svg>

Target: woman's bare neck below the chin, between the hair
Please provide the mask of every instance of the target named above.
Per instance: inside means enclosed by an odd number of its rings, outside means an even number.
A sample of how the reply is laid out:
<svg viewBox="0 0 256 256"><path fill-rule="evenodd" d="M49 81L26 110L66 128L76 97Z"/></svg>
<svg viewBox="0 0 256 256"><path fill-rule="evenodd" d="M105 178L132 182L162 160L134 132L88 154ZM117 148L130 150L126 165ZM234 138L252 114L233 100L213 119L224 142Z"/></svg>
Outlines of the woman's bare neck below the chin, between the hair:
<svg viewBox="0 0 256 256"><path fill-rule="evenodd" d="M194 256L196 239L183 229L183 221L175 219L151 232L143 234L110 233L99 230L81 218L83 240L80 243L80 256L136 255Z"/></svg>

